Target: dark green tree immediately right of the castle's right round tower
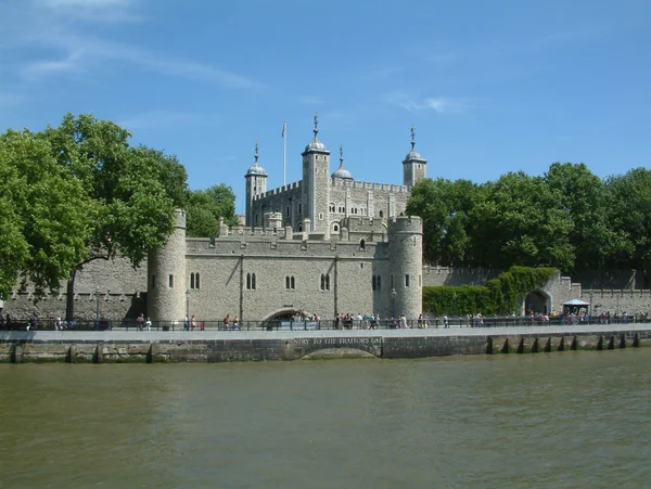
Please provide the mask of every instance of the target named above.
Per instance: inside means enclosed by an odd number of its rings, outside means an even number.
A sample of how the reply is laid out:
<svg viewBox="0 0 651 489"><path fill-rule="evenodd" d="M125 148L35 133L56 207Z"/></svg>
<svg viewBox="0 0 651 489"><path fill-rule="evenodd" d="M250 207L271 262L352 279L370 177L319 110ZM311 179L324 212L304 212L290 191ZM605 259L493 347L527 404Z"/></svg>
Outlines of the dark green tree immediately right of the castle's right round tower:
<svg viewBox="0 0 651 489"><path fill-rule="evenodd" d="M469 180L423 179L413 185L409 215L423 219L423 258L431 263L468 265L470 209L477 185Z"/></svg>

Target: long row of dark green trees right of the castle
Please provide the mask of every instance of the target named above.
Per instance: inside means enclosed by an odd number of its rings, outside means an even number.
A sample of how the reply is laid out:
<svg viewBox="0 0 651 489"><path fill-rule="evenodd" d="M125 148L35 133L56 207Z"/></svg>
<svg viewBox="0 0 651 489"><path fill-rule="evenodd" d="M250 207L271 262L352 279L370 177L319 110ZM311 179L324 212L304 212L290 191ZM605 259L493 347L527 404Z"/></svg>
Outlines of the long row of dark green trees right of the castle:
<svg viewBox="0 0 651 489"><path fill-rule="evenodd" d="M650 285L651 171L600 179L585 164L554 163L542 177L422 180L407 211L423 218L430 263L566 273L635 268Z"/></svg>

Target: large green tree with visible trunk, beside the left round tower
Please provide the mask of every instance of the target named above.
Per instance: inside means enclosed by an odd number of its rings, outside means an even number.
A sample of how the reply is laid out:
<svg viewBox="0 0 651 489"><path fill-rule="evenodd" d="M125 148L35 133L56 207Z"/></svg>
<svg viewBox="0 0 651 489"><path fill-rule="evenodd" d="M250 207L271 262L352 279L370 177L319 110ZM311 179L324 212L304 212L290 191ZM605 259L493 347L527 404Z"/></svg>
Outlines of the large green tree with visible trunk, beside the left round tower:
<svg viewBox="0 0 651 489"><path fill-rule="evenodd" d="M67 283L66 318L74 317L75 274L117 253L137 267L171 232L175 207L183 204L186 171L174 156L129 146L130 133L87 114L63 118L44 138L59 164L78 179L92 200L94 219L86 253Z"/></svg>

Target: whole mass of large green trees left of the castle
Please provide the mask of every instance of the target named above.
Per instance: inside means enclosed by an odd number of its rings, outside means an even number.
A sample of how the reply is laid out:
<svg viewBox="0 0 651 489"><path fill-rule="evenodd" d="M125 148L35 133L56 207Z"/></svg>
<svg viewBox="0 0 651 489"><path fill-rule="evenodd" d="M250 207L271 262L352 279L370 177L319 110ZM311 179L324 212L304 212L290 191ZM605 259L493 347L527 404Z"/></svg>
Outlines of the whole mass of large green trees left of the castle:
<svg viewBox="0 0 651 489"><path fill-rule="evenodd" d="M175 156L130 146L130 133L87 114L0 137L0 292L29 282L37 298L116 254L136 267L164 244L187 196Z"/></svg>

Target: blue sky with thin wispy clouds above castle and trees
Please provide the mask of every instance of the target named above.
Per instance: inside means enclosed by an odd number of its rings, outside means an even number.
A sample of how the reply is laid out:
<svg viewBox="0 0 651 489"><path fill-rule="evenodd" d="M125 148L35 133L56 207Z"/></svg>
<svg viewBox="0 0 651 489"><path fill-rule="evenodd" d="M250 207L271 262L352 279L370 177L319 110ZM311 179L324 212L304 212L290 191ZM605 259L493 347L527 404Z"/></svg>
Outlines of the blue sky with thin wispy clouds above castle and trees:
<svg viewBox="0 0 651 489"><path fill-rule="evenodd" d="M357 180L649 167L651 2L1 0L0 130L92 113L231 185L259 141L269 189L319 138Z"/></svg>

